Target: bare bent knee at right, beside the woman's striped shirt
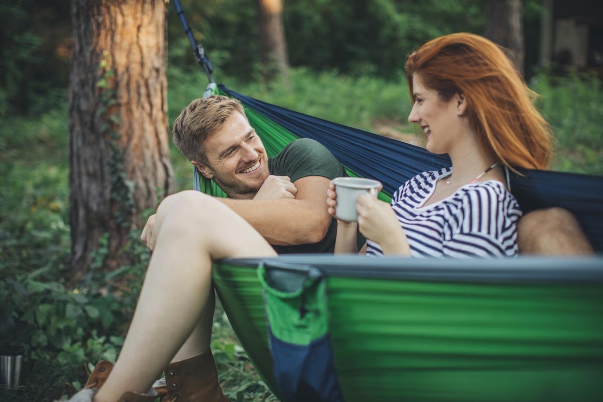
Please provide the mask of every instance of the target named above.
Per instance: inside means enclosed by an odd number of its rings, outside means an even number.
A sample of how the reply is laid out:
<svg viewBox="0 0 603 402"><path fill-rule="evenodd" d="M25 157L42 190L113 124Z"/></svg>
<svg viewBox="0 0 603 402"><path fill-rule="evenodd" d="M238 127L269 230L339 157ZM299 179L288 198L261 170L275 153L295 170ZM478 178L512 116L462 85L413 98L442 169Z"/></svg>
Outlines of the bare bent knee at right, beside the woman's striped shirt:
<svg viewBox="0 0 603 402"><path fill-rule="evenodd" d="M584 256L594 254L576 218L562 208L532 211L517 225L520 254Z"/></svg>

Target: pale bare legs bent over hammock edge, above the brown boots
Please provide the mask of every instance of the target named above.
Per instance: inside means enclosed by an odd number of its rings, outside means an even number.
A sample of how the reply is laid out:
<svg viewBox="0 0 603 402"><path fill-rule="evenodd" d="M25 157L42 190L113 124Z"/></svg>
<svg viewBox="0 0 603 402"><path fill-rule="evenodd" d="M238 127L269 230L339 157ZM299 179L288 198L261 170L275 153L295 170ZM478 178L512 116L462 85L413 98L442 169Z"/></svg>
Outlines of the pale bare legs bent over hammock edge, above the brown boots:
<svg viewBox="0 0 603 402"><path fill-rule="evenodd" d="M276 256L256 230L212 197L190 191L168 198L157 210L157 244L124 347L95 401L146 392L187 339L183 354L209 350L213 261Z"/></svg>

